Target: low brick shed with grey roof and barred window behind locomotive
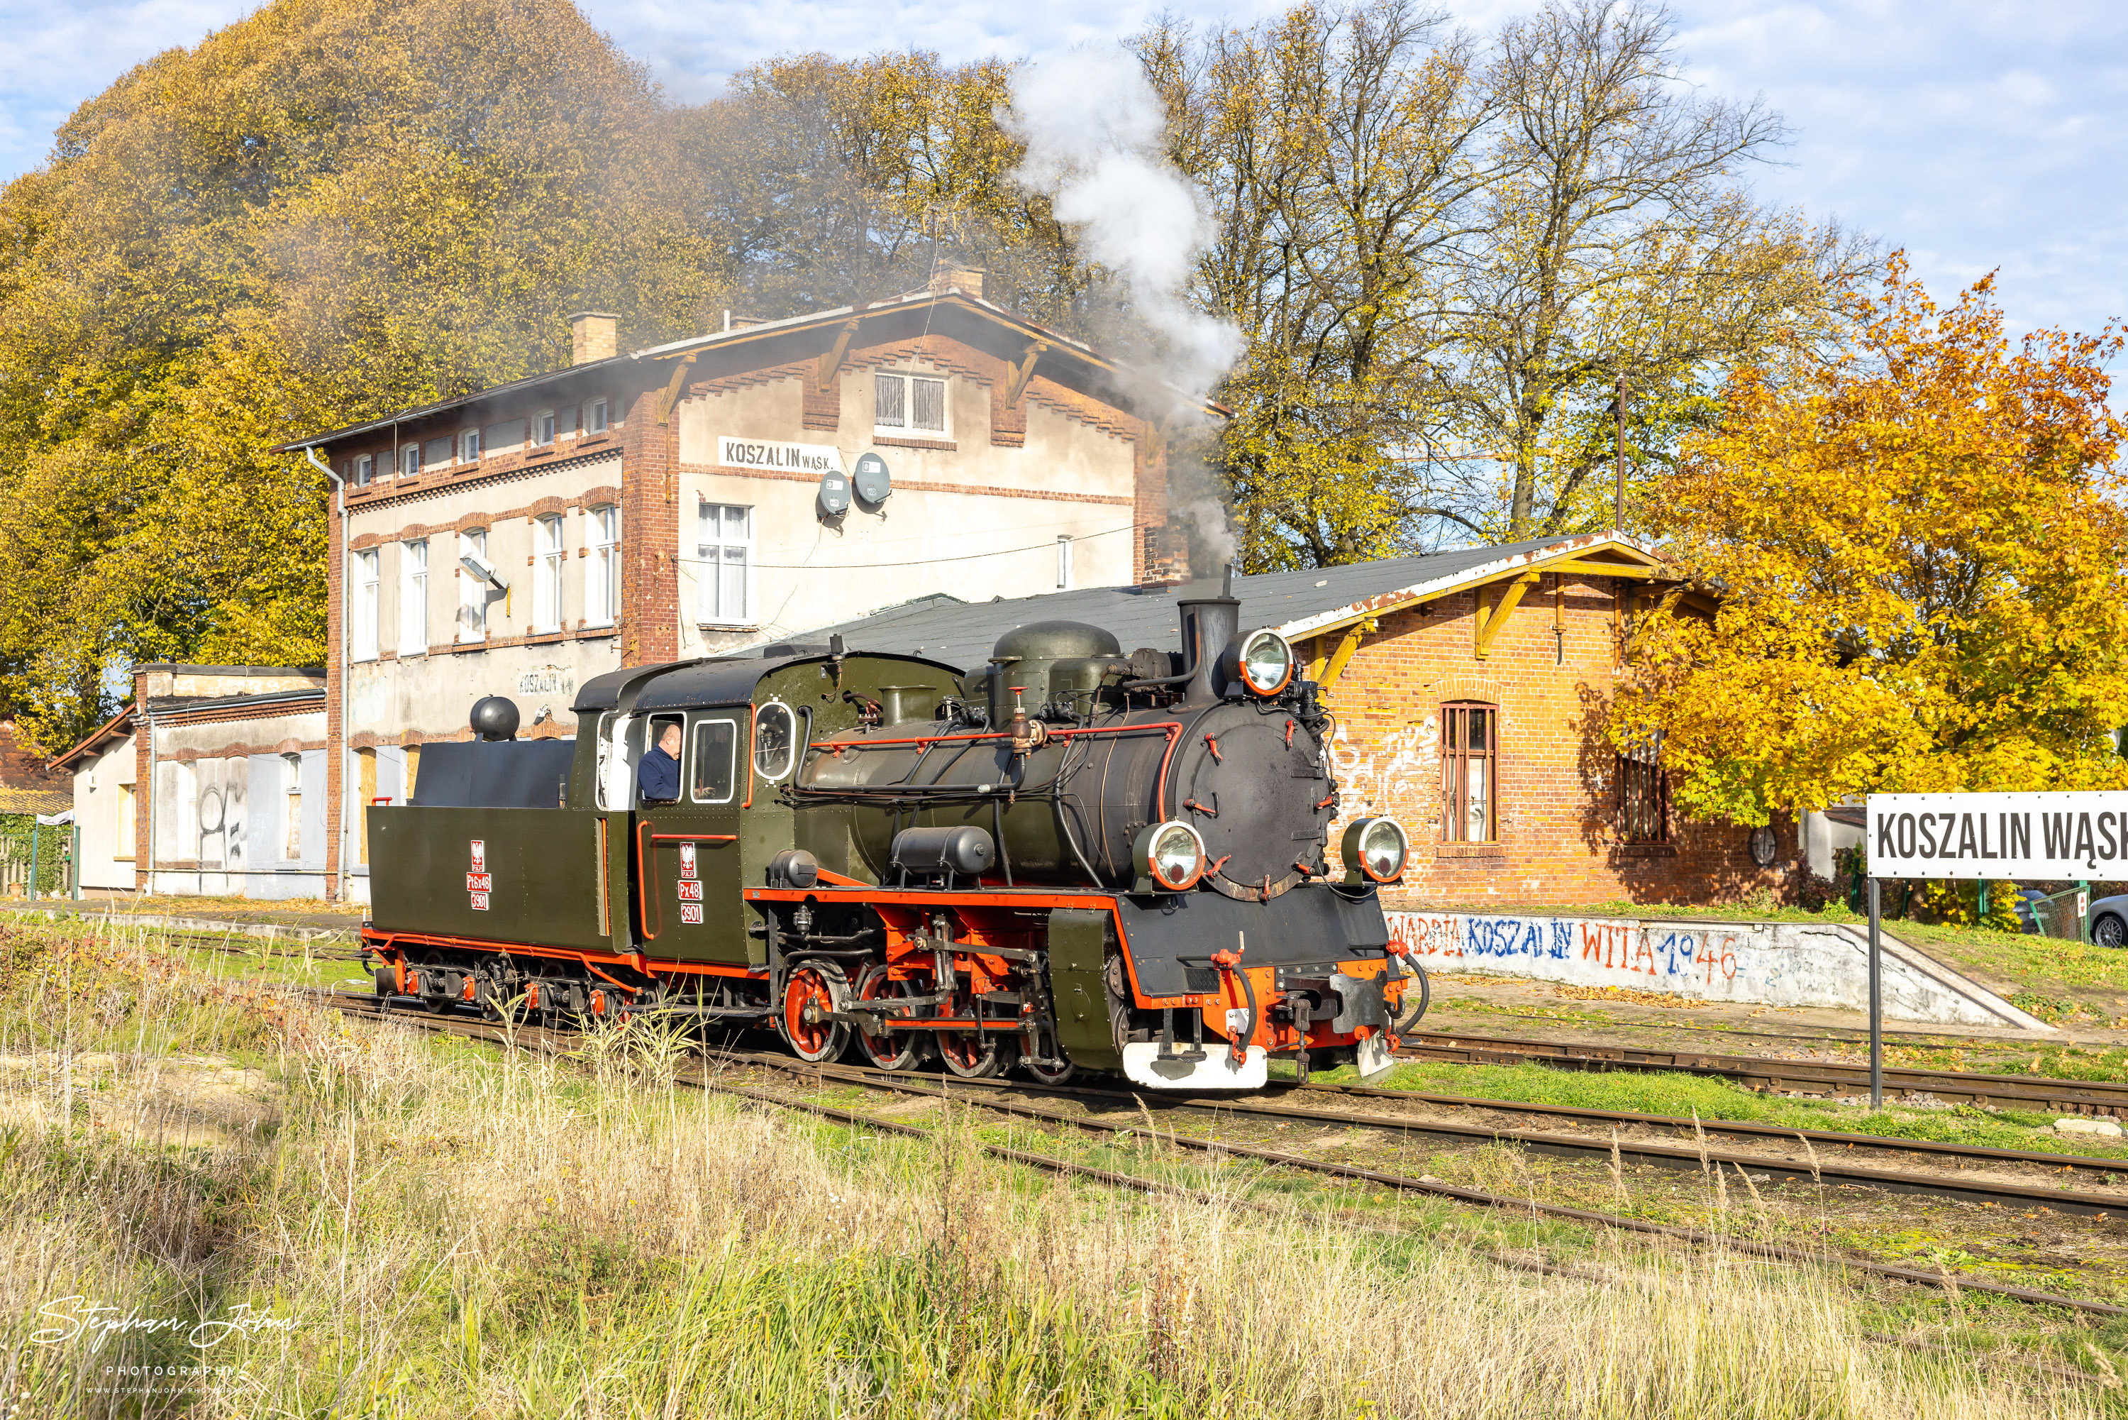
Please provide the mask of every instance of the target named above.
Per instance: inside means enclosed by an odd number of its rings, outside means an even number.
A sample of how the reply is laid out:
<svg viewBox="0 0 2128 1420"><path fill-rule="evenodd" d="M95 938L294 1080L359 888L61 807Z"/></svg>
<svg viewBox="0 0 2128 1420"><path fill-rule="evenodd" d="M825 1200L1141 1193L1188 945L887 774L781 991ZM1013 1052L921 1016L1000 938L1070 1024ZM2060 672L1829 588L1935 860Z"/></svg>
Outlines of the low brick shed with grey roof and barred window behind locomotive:
<svg viewBox="0 0 2128 1420"><path fill-rule="evenodd" d="M1683 822L1656 754L1605 741L1630 617L1668 590L1653 549L1609 534L1234 579L1243 628L1279 628L1328 688L1343 813L1387 813L1411 832L1398 907L1790 888L1792 824ZM972 666L1013 626L1073 620L1109 628L1126 651L1173 649L1179 592L928 596L804 639L841 632Z"/></svg>

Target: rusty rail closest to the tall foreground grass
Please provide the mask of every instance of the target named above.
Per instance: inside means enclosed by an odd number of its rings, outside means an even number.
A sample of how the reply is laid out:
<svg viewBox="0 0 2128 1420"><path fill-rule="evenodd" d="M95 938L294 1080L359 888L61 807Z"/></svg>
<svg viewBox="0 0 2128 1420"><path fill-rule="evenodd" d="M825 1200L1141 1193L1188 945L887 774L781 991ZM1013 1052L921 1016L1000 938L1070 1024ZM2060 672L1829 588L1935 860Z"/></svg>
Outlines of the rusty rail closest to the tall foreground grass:
<svg viewBox="0 0 2128 1420"><path fill-rule="evenodd" d="M472 1039L485 1039L485 1041L502 1043L502 1045L515 1045L519 1039L528 1039L528 1037L530 1039L538 1039L541 1043L547 1043L555 1035L566 1035L566 1033L551 1033L551 1030L545 1030L541 1026L526 1026L526 1028L515 1028L513 1030L513 1028L506 1028L506 1026L500 1026L500 1024L489 1024L489 1022L470 1022L470 1020L455 1020L453 1022L447 1016L428 1016L428 1013L415 1016L415 1013L404 1013L404 1011L385 1011L379 1005L370 1005L370 1007L351 1005L353 1001L362 1001L362 998L360 996L330 996L328 1005L332 1005L334 1009L349 1009L353 1013L370 1016L370 1018L377 1018L377 1020L400 1020L400 1022L406 1022L406 1024L411 1024L415 1028L443 1030L443 1033L449 1033L449 1035L466 1035L466 1037L472 1037ZM807 1075L807 1073L811 1073L811 1075L826 1075L830 1071L841 1073L845 1069L845 1067L807 1064L804 1060L796 1060L792 1056L738 1056L736 1052L732 1052L728 1058L743 1060L743 1062L749 1062L749 1064L753 1064L753 1062L766 1064L766 1067L772 1067L772 1069L781 1069L781 1071L785 1071L789 1075ZM687 1077L687 1075L677 1075L675 1079L679 1079L681 1084L687 1084L689 1088L726 1092L726 1094L736 1094L736 1096L743 1096L743 1099L758 1099L760 1103L777 1105L777 1107L783 1107L783 1109L798 1109L798 1111L815 1113L815 1116L821 1116L821 1118L832 1118L832 1120L838 1120L838 1122L845 1122L845 1124L853 1124L853 1126L860 1126L860 1128L877 1128L881 1133L896 1133L896 1135L921 1135L921 1133L926 1133L919 1126L902 1124L898 1120L881 1120L881 1118L875 1118L875 1116L868 1116L868 1113L862 1113L862 1111L855 1111L855 1109L836 1109L834 1105L817 1105L813 1101L792 1101L792 1099L783 1099L783 1096L770 1094L766 1090L743 1090L738 1086L717 1086L715 1081L706 1081L706 1079L698 1079L698 1077ZM860 1079L858 1084L875 1086L875 1081L870 1081L870 1079ZM968 1084L968 1081L955 1081L955 1084ZM896 1092L904 1092L904 1090L896 1090ZM907 1092L921 1092L921 1094L934 1096L934 1099L951 1099L949 1094L941 1094L936 1090L930 1090L930 1088L924 1088L924 1086L915 1086L913 1081L907 1086ZM998 1107L992 1105L992 1109L998 1109ZM1109 1124L1098 1124L1094 1120L1077 1120L1073 1116L1062 1116L1062 1113L1043 1111L1043 1109L1028 1109L1024 1105L1015 1105L1009 1111L1007 1109L998 1109L998 1111L1000 1113L1009 1113L1011 1118L1053 1118L1053 1122L1060 1122L1060 1124L1066 1124L1066 1126L1073 1126L1073 1128L1098 1128L1098 1130L1107 1130L1107 1133L1126 1133L1126 1130L1134 1130L1136 1128L1132 1124L1113 1124L1113 1126L1109 1126ZM1773 1262L1792 1262L1792 1265L1811 1265L1811 1267L1841 1267L1841 1269L1866 1273L1866 1275L1873 1275L1873 1277L1888 1277L1888 1279L1894 1279L1894 1282L1907 1282L1907 1284L1913 1284L1913 1286L1928 1286L1928 1288L1939 1288L1939 1290L1949 1290L1949 1292L1960 1292L1960 1290L1966 1290L1966 1292L1988 1292L1990 1297L2005 1297L2005 1299L2022 1301L2022 1303L2030 1303L2030 1305L2062 1307L2066 1311L2083 1311L2083 1314L2092 1314L2092 1316L2128 1316L2128 1307L2117 1307L2113 1303L2088 1301L2088 1299L2081 1299L2081 1297L2062 1297L2062 1294L2056 1294L2056 1292L2041 1292L2041 1290L2034 1290L2034 1288L2007 1286L2007 1284L2000 1284L2000 1282L1983 1282L1979 1277L1964 1277L1964 1275L1954 1275L1954 1273L1947 1273L1947 1271L1928 1273L1928 1271L1919 1271L1919 1269L1913 1269L1913 1267L1894 1267L1890 1262L1868 1262L1868 1260L1862 1260L1862 1258L1843 1258L1843 1256L1832 1256L1832 1254L1822 1254L1822 1252L1809 1252L1805 1248L1785 1248L1781 1243L1756 1243L1756 1241L1749 1241L1749 1239L1728 1237L1728 1235L1722 1235L1722 1233L1707 1233L1702 1228L1683 1228L1683 1226L1675 1226L1675 1224L1645 1222L1641 1218L1619 1218L1615 1213L1598 1213L1598 1211L1592 1211L1592 1209L1564 1207L1564 1205L1558 1205L1558 1203L1536 1203L1534 1199L1509 1199L1509 1196L1490 1194L1490 1192L1483 1192L1483 1190L1477 1190L1477 1188L1460 1188L1456 1184L1441 1184L1441 1182L1434 1182L1434 1179L1417 1179L1417 1177L1409 1177L1409 1175L1402 1175L1402 1173L1383 1173L1379 1169L1360 1169L1356 1165L1339 1165L1339 1162L1319 1160L1319 1158L1304 1158L1304 1156L1298 1156L1298 1154L1281 1154L1277 1150L1260 1150L1260 1147L1253 1147L1253 1145L1224 1143L1224 1141L1217 1141L1217 1139L1192 1139L1192 1137L1179 1135L1179 1133L1168 1133L1164 1139L1168 1143L1175 1143L1177 1147L1187 1147L1187 1150L1196 1150L1196 1152L1204 1152L1204 1154L1230 1154L1230 1156L1236 1156L1236 1158L1253 1158L1258 1162L1266 1162L1266 1165L1275 1165L1275 1167L1300 1169L1300 1171L1309 1171L1309 1173L1328 1173L1328 1175L1334 1175L1334 1177L1351 1177L1351 1179L1360 1179L1360 1182L1368 1182L1368 1184L1379 1184L1379 1186L1392 1188L1396 1192L1415 1192L1415 1194L1428 1194L1428 1196L1449 1199L1449 1201L1456 1201L1456 1203L1468 1203L1468 1205L1475 1205L1475 1207L1487 1207L1487 1209L1500 1209L1500 1211L1513 1211L1513 1213L1526 1213L1526 1216L1558 1218L1558 1220L1564 1220L1564 1222L1579 1222L1579 1224L1585 1224L1585 1226L1602 1226L1602 1228L1615 1228L1615 1231L1624 1231L1624 1233L1639 1233L1643 1237L1668 1237L1673 1241L1683 1241L1683 1243L1698 1245L1698 1248L1728 1248L1732 1252L1741 1252L1745 1256L1764 1258L1764 1260L1773 1260ZM981 1141L981 1143L983 1143L985 1154L990 1154L994 1158L1004 1158L1009 1162L1019 1162L1019 1165L1026 1165L1026 1167L1032 1167L1032 1169L1041 1169L1041 1171L1047 1171L1047 1173L1060 1173L1060 1175L1070 1175L1070 1177L1087 1177L1087 1179L1111 1184L1111 1186L1117 1186L1117 1188L1136 1188L1136 1190L1145 1190L1145 1192L1166 1192L1166 1190L1175 1188L1175 1186L1164 1184L1160 1179L1141 1179L1141 1177L1134 1177L1134 1175L1128 1175L1128 1173L1115 1173L1115 1171L1107 1171L1107 1169L1092 1169L1087 1165L1075 1165L1075 1162L1068 1162L1068 1160L1062 1160L1062 1158L1049 1158L1045 1154L1030 1154L1030 1152L1024 1152L1024 1150L1009 1150L1004 1145L996 1145L996 1143L987 1143L987 1141Z"/></svg>

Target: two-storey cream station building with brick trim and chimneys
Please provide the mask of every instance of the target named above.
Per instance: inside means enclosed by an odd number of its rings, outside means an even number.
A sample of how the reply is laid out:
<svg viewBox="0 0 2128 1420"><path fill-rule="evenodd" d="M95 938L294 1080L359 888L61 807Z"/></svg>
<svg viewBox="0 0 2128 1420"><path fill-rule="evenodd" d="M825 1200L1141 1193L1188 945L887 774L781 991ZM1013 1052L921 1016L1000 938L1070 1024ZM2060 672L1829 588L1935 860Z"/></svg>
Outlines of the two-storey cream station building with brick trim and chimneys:
<svg viewBox="0 0 2128 1420"><path fill-rule="evenodd" d="M285 445L334 481L326 873L366 898L366 809L481 696L570 737L577 686L624 664L1166 575L1187 404L947 268L626 353L579 313L562 370Z"/></svg>

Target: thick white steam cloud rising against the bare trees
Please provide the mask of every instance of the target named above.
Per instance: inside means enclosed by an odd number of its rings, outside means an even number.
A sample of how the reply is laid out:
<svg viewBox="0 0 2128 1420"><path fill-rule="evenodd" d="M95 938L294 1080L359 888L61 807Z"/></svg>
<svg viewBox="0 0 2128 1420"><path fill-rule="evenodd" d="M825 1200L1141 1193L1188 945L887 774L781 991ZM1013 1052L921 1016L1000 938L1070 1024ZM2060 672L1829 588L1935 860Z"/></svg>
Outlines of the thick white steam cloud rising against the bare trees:
<svg viewBox="0 0 2128 1420"><path fill-rule="evenodd" d="M1162 343L1164 375L1198 398L1241 353L1241 332L1196 311L1185 290L1213 238L1204 198L1160 149L1166 115L1124 49L1079 49L1013 75L1007 132L1028 145L1013 179L1047 192L1081 251L1130 294Z"/></svg>

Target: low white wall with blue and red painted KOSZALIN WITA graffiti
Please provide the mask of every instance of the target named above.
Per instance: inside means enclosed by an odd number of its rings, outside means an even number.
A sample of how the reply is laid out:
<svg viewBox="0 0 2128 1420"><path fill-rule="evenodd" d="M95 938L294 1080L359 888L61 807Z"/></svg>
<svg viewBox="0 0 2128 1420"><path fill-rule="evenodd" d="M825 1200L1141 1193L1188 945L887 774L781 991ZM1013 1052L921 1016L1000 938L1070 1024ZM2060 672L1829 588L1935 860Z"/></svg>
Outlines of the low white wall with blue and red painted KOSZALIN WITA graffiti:
<svg viewBox="0 0 2128 1420"><path fill-rule="evenodd" d="M1747 977L1749 928L1662 926L1600 918L1524 918L1392 911L1390 941L1419 962L1547 979L1728 994Z"/></svg>

